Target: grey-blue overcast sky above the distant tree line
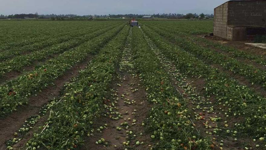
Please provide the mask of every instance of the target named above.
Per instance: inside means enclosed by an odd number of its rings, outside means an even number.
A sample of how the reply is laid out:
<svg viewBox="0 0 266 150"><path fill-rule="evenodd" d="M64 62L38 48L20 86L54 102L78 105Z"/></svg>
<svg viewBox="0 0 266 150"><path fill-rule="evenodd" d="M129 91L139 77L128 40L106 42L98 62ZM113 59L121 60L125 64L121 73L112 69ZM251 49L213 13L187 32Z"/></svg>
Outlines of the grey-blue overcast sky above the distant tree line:
<svg viewBox="0 0 266 150"><path fill-rule="evenodd" d="M213 13L226 0L0 0L0 14Z"/></svg>

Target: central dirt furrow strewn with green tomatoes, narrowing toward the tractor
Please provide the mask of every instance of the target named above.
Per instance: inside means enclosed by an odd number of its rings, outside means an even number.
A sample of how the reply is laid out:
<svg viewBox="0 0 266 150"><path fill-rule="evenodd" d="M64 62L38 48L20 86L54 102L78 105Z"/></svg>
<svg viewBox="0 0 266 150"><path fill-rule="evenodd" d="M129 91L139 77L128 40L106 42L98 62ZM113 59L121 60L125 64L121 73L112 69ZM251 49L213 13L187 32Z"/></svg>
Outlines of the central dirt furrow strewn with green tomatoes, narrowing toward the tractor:
<svg viewBox="0 0 266 150"><path fill-rule="evenodd" d="M85 149L124 150L125 148L147 148L142 124L149 111L146 92L139 78L132 73L129 56L131 34L129 34L118 77L112 84L112 96L108 99L104 115L95 123L95 130L86 138ZM111 109L111 110L110 110ZM101 129L101 127L104 127Z"/></svg>

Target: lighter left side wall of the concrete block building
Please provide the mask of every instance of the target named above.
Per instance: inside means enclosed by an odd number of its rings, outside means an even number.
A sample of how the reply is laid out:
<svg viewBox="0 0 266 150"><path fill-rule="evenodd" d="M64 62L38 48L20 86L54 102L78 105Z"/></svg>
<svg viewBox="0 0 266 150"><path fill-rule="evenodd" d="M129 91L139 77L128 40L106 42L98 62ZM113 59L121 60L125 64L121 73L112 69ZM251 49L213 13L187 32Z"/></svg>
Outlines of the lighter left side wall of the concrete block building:
<svg viewBox="0 0 266 150"><path fill-rule="evenodd" d="M214 9L213 35L227 38L228 2Z"/></svg>

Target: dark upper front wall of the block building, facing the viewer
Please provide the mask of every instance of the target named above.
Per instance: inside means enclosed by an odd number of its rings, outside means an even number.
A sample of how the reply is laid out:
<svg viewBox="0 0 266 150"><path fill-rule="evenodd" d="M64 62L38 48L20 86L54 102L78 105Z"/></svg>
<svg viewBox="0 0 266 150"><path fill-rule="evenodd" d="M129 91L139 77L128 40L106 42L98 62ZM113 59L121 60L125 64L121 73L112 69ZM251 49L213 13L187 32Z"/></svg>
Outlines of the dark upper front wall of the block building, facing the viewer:
<svg viewBox="0 0 266 150"><path fill-rule="evenodd" d="M266 1L229 1L227 25L265 27Z"/></svg>

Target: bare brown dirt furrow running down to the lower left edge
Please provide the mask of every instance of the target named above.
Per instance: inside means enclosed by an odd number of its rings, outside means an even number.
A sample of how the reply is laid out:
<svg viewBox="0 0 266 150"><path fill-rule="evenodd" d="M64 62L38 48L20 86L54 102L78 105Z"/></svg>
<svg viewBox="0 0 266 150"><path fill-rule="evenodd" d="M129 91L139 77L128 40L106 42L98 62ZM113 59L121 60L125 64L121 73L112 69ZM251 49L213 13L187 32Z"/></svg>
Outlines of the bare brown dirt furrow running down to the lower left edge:
<svg viewBox="0 0 266 150"><path fill-rule="evenodd" d="M24 124L27 118L37 115L43 105L47 104L51 99L60 96L60 91L63 89L65 82L77 76L79 71L84 69L91 59L92 55L88 55L83 62L76 64L63 76L57 78L53 86L45 88L36 93L36 95L32 95L29 98L28 105L18 107L16 112L1 118L0 148L5 149L5 142L14 137L14 132Z"/></svg>

